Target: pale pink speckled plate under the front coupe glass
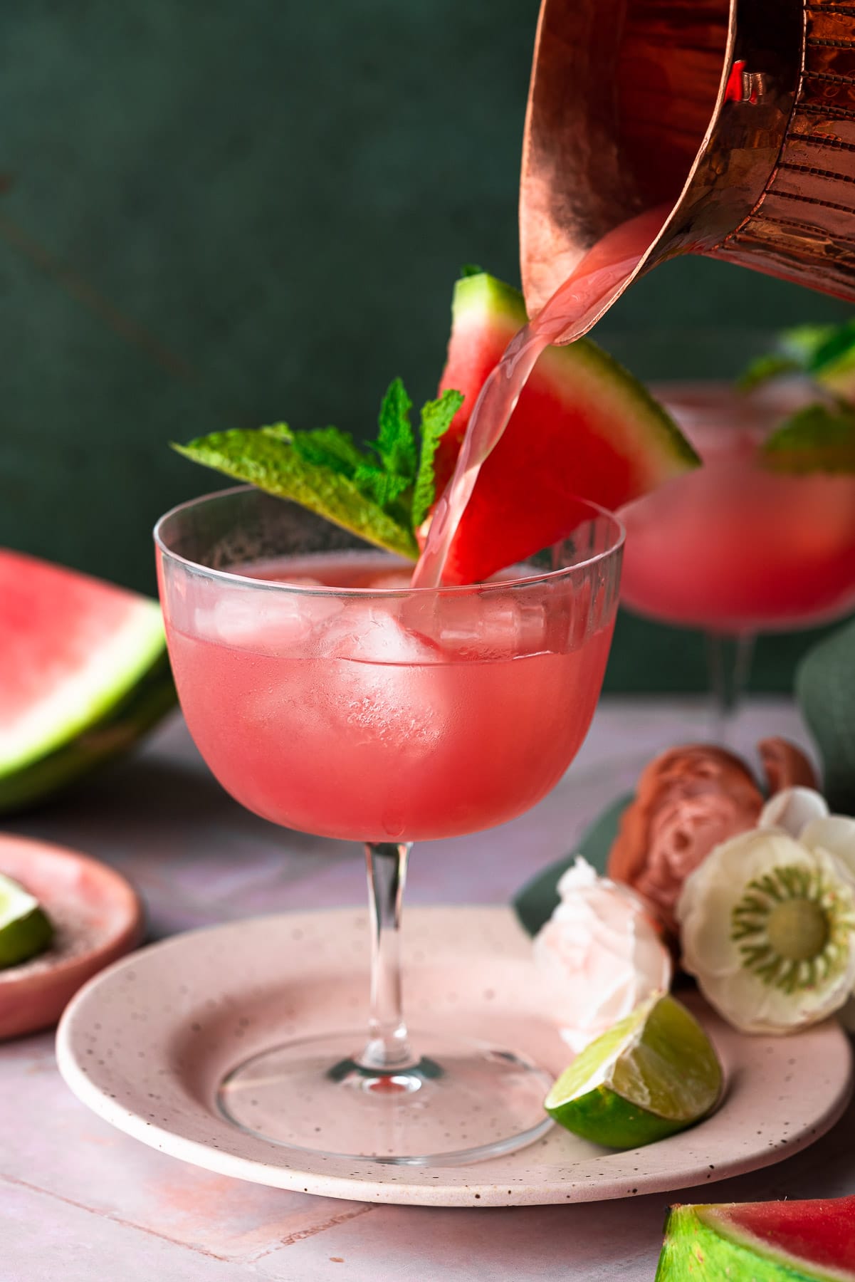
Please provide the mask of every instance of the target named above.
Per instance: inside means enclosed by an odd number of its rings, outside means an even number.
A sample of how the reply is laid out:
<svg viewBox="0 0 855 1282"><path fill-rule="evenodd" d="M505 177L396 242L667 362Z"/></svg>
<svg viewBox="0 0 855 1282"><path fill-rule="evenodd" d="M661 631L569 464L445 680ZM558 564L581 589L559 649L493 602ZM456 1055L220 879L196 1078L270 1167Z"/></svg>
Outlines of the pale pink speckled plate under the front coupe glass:
<svg viewBox="0 0 855 1282"><path fill-rule="evenodd" d="M565 1065L567 1047L533 1013L531 944L509 909L410 909L404 940L413 1026L429 1013L433 1027L526 1050L555 1073ZM708 1183L804 1149L850 1094L850 1047L836 1023L745 1037L699 1003L727 1070L724 1103L701 1126L631 1153L554 1128L470 1167L390 1167L269 1144L219 1115L214 1090L228 1069L277 1040L359 1027L367 986L368 922L353 909L194 931L117 963L74 997L58 1035L60 1072L113 1126L209 1170L428 1206L597 1201Z"/></svg>

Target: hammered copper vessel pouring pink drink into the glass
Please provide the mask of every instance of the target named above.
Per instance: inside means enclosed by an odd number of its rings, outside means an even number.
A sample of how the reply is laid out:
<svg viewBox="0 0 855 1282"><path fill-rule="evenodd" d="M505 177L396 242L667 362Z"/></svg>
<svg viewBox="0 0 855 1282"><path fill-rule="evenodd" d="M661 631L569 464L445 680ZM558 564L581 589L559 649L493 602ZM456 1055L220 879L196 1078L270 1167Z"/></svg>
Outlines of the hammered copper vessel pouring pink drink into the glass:
<svg viewBox="0 0 855 1282"><path fill-rule="evenodd" d="M635 274L706 254L855 300L855 0L542 0L529 314L600 236L663 204Z"/></svg>

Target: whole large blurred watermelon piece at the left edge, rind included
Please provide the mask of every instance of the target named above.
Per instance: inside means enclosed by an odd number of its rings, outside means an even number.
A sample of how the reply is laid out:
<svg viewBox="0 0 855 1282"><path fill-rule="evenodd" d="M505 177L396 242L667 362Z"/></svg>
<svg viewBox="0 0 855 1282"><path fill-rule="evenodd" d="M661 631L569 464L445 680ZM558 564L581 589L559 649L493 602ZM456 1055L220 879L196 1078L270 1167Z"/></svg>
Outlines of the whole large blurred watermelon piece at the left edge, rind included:
<svg viewBox="0 0 855 1282"><path fill-rule="evenodd" d="M173 704L156 601L0 549L0 812L129 747Z"/></svg>

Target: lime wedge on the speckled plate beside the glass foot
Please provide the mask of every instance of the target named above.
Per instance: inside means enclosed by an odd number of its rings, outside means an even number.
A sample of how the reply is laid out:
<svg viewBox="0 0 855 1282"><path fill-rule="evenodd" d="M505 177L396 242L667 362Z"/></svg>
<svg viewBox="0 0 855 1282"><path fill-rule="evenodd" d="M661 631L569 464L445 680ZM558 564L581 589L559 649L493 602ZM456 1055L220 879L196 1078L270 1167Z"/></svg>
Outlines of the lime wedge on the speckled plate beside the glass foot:
<svg viewBox="0 0 855 1282"><path fill-rule="evenodd" d="M685 1006L654 996L586 1046L546 1096L546 1111L609 1149L664 1140L710 1113L722 1065Z"/></svg>

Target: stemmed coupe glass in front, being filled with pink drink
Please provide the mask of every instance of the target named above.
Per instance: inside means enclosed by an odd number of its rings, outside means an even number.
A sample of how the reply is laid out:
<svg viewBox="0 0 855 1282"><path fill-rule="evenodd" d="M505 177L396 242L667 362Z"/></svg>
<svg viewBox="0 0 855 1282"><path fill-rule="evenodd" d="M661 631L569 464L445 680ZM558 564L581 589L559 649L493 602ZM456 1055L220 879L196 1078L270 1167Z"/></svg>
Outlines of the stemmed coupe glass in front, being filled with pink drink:
<svg viewBox="0 0 855 1282"><path fill-rule="evenodd" d="M410 1037L399 931L411 842L513 819L587 732L623 528L592 504L579 503L579 522L499 581L420 590L406 586L406 563L251 487L158 523L169 655L203 756L247 809L363 841L368 860L368 1036L295 1040L237 1064L218 1103L244 1129L331 1155L449 1164L508 1153L550 1124L549 1077L526 1054L442 1028Z"/></svg>

